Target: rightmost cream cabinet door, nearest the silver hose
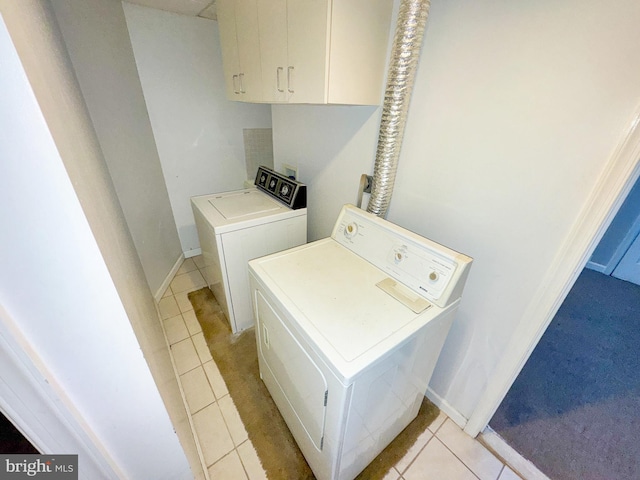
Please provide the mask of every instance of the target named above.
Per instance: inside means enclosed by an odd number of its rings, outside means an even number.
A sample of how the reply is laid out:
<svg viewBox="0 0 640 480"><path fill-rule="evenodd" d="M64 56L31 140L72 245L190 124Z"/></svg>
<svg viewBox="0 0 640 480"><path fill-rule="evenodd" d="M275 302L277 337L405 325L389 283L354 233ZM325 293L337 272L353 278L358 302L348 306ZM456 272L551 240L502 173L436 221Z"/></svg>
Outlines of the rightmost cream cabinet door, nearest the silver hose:
<svg viewBox="0 0 640 480"><path fill-rule="evenodd" d="M290 103L327 102L330 15L330 0L287 2Z"/></svg>

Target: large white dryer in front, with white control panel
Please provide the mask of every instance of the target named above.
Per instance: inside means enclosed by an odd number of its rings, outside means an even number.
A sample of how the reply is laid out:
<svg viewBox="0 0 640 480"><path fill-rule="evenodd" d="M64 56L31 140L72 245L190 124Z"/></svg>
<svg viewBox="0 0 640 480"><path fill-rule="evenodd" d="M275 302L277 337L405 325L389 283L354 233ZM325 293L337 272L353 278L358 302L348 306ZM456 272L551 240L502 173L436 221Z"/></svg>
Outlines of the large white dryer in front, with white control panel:
<svg viewBox="0 0 640 480"><path fill-rule="evenodd" d="M260 375L318 479L416 417L471 262L351 205L330 238L249 262Z"/></svg>

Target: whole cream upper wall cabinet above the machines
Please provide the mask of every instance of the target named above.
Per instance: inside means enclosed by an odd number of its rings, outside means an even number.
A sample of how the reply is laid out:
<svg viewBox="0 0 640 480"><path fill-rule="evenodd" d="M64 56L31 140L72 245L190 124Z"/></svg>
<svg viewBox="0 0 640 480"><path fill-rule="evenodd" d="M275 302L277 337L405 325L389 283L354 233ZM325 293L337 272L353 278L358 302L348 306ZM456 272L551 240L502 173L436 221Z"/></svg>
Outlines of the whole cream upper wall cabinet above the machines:
<svg viewBox="0 0 640 480"><path fill-rule="evenodd" d="M250 5L240 9L240 4ZM379 105L392 7L393 0L218 0L227 96L247 102ZM256 95L249 92L247 67L236 66L245 34L259 70L253 73L260 78Z"/></svg>

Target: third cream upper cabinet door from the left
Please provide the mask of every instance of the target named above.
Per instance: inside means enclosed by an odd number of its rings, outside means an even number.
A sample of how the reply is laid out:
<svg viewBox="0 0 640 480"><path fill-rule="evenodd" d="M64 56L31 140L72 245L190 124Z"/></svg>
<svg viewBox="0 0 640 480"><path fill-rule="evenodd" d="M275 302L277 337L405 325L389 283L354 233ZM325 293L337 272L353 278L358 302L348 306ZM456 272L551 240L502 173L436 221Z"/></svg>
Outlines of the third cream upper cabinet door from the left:
<svg viewBox="0 0 640 480"><path fill-rule="evenodd" d="M265 102L286 102L287 0L258 0L262 96Z"/></svg>

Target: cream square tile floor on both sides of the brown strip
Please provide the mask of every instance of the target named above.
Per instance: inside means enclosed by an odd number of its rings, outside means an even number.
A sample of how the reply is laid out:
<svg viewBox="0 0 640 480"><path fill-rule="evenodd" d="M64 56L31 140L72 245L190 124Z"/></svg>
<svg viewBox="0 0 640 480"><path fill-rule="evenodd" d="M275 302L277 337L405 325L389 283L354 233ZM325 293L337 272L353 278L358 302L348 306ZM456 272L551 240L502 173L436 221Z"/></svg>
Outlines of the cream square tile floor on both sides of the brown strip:
<svg viewBox="0 0 640 480"><path fill-rule="evenodd" d="M188 292L205 286L201 267L201 257L186 259L158 306L191 415L205 478L266 479L187 298ZM440 413L385 477L385 480L430 479L519 480L520 477Z"/></svg>

